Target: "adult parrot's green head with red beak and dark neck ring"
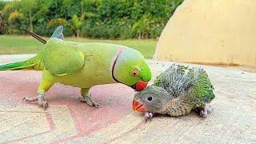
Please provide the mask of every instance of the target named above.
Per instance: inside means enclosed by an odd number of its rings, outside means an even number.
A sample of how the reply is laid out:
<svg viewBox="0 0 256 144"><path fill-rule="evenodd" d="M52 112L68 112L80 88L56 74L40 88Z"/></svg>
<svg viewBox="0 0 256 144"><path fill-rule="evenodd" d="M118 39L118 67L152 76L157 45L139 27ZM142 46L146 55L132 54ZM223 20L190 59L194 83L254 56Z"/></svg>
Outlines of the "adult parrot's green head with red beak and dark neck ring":
<svg viewBox="0 0 256 144"><path fill-rule="evenodd" d="M151 79L150 67L138 50L126 48L118 55L112 76L115 81L140 91L146 88Z"/></svg>

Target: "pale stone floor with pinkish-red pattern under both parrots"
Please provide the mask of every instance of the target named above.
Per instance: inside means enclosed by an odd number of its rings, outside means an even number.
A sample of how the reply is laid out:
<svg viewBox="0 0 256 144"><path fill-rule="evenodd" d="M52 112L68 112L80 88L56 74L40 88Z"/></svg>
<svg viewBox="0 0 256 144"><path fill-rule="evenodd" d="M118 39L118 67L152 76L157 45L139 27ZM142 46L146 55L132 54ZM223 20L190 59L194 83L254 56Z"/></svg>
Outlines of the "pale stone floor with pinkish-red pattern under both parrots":
<svg viewBox="0 0 256 144"><path fill-rule="evenodd" d="M0 63L31 56L0 55ZM154 78L172 63L148 62ZM42 72L0 71L0 143L256 143L256 74L232 67L202 67L215 88L216 98L210 104L214 112L208 118L192 112L146 123L131 110L134 90L128 86L94 86L91 93L101 104L95 109L78 102L78 88L57 84L46 93L50 107L42 110L22 102L23 97L36 94Z"/></svg>

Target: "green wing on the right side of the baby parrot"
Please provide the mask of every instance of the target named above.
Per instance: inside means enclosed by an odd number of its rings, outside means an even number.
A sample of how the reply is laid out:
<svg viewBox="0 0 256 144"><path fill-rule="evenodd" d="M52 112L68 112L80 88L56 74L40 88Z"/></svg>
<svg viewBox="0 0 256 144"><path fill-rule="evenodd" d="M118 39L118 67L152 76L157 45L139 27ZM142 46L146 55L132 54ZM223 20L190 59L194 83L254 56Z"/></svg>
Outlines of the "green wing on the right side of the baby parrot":
<svg viewBox="0 0 256 144"><path fill-rule="evenodd" d="M205 70L202 68L194 68L190 72L198 74L197 82L193 86L193 89L190 90L189 95L192 101L195 103L195 106L202 106L206 102L210 102L214 98L214 86L212 86L210 79Z"/></svg>

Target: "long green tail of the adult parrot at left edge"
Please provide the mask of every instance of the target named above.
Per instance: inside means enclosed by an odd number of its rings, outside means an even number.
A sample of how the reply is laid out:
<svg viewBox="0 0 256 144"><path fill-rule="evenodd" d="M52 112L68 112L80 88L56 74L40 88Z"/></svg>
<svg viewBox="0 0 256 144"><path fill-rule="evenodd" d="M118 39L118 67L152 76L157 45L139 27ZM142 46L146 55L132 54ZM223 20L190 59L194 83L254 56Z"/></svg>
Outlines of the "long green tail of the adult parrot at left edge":
<svg viewBox="0 0 256 144"><path fill-rule="evenodd" d="M43 70L42 53L30 58L26 61L12 62L0 66L0 70Z"/></svg>

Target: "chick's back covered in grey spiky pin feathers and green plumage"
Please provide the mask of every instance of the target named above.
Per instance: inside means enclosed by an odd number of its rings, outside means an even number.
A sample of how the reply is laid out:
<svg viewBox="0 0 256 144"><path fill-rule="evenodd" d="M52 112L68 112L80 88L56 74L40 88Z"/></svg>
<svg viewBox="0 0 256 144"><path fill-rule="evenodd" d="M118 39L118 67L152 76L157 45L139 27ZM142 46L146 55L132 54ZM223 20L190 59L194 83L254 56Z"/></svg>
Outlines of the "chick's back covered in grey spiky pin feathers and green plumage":
<svg viewBox="0 0 256 144"><path fill-rule="evenodd" d="M171 96L189 100L193 108L204 106L214 98L214 87L202 68L174 64L156 78L154 86L164 88Z"/></svg>

